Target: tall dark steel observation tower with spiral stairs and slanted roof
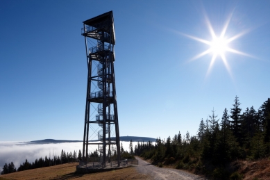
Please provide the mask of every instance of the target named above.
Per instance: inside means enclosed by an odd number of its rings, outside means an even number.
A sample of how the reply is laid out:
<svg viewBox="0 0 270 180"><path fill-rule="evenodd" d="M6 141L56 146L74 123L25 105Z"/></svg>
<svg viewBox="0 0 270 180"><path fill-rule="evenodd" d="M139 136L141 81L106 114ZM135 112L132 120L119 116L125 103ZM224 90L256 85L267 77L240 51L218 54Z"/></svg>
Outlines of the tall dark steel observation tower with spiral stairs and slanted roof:
<svg viewBox="0 0 270 180"><path fill-rule="evenodd" d="M96 147L101 167L121 161L115 89L115 26L112 11L83 22L87 57L87 93L83 133L83 160Z"/></svg>

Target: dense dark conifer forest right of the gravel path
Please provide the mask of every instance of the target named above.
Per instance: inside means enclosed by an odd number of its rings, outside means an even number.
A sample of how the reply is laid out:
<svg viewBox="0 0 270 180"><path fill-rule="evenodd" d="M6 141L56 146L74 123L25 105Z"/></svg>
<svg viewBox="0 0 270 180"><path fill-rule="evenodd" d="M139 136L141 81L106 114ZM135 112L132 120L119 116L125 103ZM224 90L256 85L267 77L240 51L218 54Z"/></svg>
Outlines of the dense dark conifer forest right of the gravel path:
<svg viewBox="0 0 270 180"><path fill-rule="evenodd" d="M130 153L150 159L158 167L174 165L211 179L241 179L234 161L270 156L270 99L258 111L253 106L242 111L235 97L230 112L225 108L221 120L214 110L202 119L196 136L187 131L183 137L178 132L167 140L157 138L155 145L138 142Z"/></svg>

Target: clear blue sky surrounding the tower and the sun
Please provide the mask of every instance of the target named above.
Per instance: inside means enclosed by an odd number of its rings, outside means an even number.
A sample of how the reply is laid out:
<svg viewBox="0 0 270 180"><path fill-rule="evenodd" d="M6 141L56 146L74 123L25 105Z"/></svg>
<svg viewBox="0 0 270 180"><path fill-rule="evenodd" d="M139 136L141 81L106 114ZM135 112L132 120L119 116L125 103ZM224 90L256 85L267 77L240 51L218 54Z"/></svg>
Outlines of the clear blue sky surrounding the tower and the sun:
<svg viewBox="0 0 270 180"><path fill-rule="evenodd" d="M0 1L0 140L83 140L83 21L112 10L120 136L196 134L214 108L270 97L269 1ZM231 49L206 76L207 20ZM183 35L186 34L186 35ZM251 57L252 56L252 57ZM231 75L230 75L231 74Z"/></svg>

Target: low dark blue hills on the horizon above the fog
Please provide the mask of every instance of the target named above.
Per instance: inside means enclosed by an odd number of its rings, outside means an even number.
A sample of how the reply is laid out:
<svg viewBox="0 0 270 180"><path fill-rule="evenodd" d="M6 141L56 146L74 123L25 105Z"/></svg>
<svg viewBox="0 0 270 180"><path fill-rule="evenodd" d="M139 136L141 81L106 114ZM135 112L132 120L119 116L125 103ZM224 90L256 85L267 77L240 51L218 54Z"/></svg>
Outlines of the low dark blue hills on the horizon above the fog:
<svg viewBox="0 0 270 180"><path fill-rule="evenodd" d="M138 136L120 136L120 141L130 141L133 142L155 142L155 138L147 138L147 137L138 137ZM90 140L90 142L94 142L98 140ZM45 140L33 140L25 142L27 144L57 144L64 142L83 142L83 140L53 140L53 139L45 139Z"/></svg>

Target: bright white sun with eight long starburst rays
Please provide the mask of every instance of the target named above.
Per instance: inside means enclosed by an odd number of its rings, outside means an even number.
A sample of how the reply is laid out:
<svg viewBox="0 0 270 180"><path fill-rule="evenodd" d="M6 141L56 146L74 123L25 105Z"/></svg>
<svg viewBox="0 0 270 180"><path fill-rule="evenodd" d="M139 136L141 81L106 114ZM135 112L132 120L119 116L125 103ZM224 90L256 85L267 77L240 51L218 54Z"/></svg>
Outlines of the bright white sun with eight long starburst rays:
<svg viewBox="0 0 270 180"><path fill-rule="evenodd" d="M202 56L205 56L206 54L212 54L212 58L210 61L210 65L208 67L208 72L206 73L206 76L208 76L208 74L210 74L210 71L214 65L215 60L217 60L217 57L220 57L221 60L223 61L223 64L225 65L228 73L230 74L230 76L232 76L231 72L230 72L230 66L228 65L228 61L226 59L226 52L230 52L230 53L234 53L234 54L239 54L239 55L243 55L243 56L249 56L252 57L251 55L245 54L241 51L237 51L236 49L233 49L229 46L229 44L231 42L233 42L233 40L236 40L237 38L241 37L242 35L244 35L245 33L247 33L248 31L244 31L242 33L238 33L237 35L234 35L231 38L225 38L226 36L226 31L228 28L228 25L230 24L230 19L232 18L233 13L231 13L225 23L225 25L222 28L222 31L219 35L219 37L217 36L217 33L214 32L214 29L212 28L212 24L210 23L208 17L205 15L205 22L208 26L209 32L212 36L212 40L204 40L202 38L197 38L193 35L187 35L185 33L180 33L181 35L185 35L188 38L191 38L193 40L199 41L199 42L203 42L204 44L208 44L209 48L206 49L205 51L203 51L201 54L196 55L194 58L192 58L191 60L196 60L198 58L201 58ZM253 58L253 57L252 57Z"/></svg>

